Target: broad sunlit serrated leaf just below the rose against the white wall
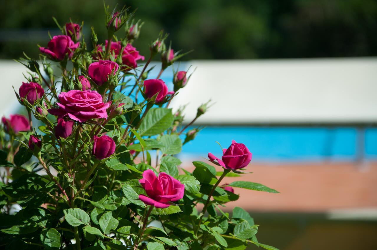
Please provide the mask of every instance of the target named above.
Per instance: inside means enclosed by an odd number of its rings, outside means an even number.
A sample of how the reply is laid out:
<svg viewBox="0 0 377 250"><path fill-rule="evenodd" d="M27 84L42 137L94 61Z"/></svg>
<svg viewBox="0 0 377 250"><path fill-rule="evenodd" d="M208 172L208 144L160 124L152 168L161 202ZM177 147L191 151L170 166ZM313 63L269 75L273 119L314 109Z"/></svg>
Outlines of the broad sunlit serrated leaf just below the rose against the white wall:
<svg viewBox="0 0 377 250"><path fill-rule="evenodd" d="M172 110L169 108L151 108L140 124L141 136L161 134L173 124Z"/></svg>

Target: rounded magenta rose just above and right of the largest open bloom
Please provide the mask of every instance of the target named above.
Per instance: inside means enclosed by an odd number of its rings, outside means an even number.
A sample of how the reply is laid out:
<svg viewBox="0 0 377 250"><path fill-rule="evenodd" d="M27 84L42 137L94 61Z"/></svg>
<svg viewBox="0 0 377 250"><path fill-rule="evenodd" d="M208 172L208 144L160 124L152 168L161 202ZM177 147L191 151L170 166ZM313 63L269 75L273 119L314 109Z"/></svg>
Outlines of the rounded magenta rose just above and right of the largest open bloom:
<svg viewBox="0 0 377 250"><path fill-rule="evenodd" d="M88 75L97 84L102 86L109 79L110 74L115 75L119 65L116 62L100 60L93 62L88 67Z"/></svg>

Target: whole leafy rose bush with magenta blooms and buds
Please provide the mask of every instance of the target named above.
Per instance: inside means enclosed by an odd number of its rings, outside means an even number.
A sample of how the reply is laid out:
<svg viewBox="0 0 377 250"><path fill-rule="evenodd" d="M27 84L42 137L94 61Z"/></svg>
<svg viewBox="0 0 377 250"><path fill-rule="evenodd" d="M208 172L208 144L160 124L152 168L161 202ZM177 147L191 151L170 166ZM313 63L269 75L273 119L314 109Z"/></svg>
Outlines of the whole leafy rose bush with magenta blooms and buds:
<svg viewBox="0 0 377 250"><path fill-rule="evenodd" d="M132 18L127 8L106 7L104 43L94 29L86 44L83 25L58 25L63 35L41 47L38 60L20 61L29 72L15 94L29 118L3 117L0 126L1 247L276 249L257 241L258 225L247 211L227 209L231 201L248 199L239 197L239 188L277 192L249 181L225 182L251 168L244 144L233 141L221 159L209 153L208 162L179 167L182 146L202 129L193 123L209 105L188 122L183 108L169 108L190 76L171 67L174 91L159 78L184 54L167 47L161 33L143 62L132 44L143 23ZM123 26L125 37L117 38ZM158 54L156 76L149 63Z"/></svg>

